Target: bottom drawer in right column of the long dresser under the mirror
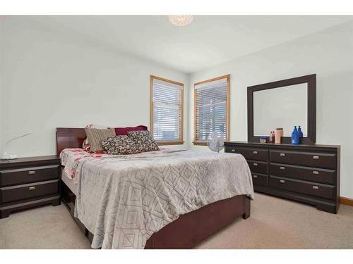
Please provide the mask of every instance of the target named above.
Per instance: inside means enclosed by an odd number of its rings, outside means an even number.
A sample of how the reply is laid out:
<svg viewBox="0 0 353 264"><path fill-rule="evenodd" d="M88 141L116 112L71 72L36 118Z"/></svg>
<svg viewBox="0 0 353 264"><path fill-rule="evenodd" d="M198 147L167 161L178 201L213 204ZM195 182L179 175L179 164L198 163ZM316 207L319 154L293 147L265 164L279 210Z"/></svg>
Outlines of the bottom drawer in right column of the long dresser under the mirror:
<svg viewBox="0 0 353 264"><path fill-rule="evenodd" d="M335 187L327 184L316 184L314 182L304 182L301 180L289 180L283 177L270 176L270 187L283 189L286 191L295 191L301 194L333 199Z"/></svg>

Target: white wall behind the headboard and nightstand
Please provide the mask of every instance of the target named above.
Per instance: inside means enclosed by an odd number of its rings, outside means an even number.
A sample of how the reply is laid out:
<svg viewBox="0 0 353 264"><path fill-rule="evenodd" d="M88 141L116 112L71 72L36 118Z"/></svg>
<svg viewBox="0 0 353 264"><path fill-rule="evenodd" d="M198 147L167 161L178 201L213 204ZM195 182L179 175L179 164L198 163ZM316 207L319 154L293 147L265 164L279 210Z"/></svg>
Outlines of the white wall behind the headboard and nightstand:
<svg viewBox="0 0 353 264"><path fill-rule="evenodd" d="M54 32L30 20L4 21L1 38L5 65L1 105L7 109L1 120L1 142L33 132L6 149L18 156L55 154L56 127L89 123L149 126L150 75L188 87L189 77L184 73ZM188 96L184 94L187 122Z"/></svg>

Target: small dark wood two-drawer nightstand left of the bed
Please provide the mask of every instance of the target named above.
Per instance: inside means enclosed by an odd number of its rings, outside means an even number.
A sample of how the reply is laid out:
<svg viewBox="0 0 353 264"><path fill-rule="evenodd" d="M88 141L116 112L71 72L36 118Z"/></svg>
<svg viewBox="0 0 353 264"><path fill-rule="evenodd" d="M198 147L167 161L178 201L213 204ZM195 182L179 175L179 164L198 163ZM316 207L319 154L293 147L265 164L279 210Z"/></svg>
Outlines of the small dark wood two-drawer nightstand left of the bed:
<svg viewBox="0 0 353 264"><path fill-rule="evenodd" d="M57 156L0 161L0 218L15 210L60 204Z"/></svg>

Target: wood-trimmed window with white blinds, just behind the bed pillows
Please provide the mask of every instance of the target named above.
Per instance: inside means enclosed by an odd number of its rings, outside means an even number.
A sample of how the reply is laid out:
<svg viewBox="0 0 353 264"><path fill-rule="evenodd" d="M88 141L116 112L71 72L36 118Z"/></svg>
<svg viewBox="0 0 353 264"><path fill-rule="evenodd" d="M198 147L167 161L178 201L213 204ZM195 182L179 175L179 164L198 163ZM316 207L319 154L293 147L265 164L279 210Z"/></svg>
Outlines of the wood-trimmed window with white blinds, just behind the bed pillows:
<svg viewBox="0 0 353 264"><path fill-rule="evenodd" d="M184 84L151 75L150 131L159 145L183 144Z"/></svg>

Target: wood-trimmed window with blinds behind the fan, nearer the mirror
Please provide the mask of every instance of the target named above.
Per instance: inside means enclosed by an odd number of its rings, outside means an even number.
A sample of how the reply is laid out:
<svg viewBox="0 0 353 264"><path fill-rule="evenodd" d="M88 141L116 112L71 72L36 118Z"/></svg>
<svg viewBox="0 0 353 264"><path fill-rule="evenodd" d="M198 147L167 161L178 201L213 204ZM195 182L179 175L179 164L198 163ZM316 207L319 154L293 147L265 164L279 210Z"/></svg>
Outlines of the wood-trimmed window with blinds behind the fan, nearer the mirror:
<svg viewBox="0 0 353 264"><path fill-rule="evenodd" d="M193 96L193 144L206 145L213 131L229 140L229 75L196 83Z"/></svg>

